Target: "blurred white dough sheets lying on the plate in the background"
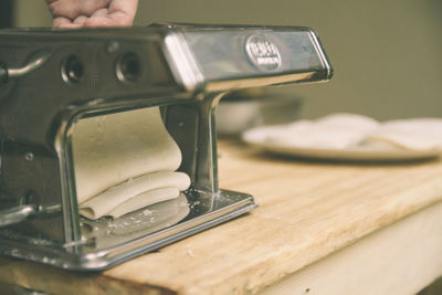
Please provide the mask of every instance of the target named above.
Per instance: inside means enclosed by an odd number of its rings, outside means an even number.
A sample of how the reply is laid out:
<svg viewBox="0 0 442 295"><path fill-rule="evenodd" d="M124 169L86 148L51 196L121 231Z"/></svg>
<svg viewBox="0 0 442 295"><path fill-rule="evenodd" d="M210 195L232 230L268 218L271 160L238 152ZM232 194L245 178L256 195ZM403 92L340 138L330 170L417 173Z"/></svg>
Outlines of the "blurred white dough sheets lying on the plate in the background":
<svg viewBox="0 0 442 295"><path fill-rule="evenodd" d="M442 118L379 123L366 116L341 113L252 130L250 135L262 143L284 147L351 149L369 145L383 149L442 150ZM245 140L246 136L248 133Z"/></svg>

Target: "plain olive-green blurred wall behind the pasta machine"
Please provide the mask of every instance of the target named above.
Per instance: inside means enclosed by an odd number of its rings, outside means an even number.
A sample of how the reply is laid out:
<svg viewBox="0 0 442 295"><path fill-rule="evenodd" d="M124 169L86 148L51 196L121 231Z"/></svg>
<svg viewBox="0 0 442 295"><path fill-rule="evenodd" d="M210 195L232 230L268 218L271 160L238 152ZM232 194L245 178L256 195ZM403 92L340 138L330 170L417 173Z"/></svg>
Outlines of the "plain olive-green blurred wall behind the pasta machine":
<svg viewBox="0 0 442 295"><path fill-rule="evenodd" d="M17 27L48 27L43 0L15 0ZM305 98L303 117L354 112L378 119L442 117L440 0L139 0L135 23L306 25L335 67L326 84L277 88Z"/></svg>

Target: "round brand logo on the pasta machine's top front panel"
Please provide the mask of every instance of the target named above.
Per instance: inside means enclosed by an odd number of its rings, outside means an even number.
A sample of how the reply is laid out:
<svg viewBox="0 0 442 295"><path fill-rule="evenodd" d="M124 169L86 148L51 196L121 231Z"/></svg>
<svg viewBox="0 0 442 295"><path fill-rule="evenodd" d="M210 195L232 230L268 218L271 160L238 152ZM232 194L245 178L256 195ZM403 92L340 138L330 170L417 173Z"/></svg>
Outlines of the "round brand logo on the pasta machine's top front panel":
<svg viewBox="0 0 442 295"><path fill-rule="evenodd" d="M251 35L245 42L249 60L263 71L274 71L281 66L281 54L276 45L263 35Z"/></svg>

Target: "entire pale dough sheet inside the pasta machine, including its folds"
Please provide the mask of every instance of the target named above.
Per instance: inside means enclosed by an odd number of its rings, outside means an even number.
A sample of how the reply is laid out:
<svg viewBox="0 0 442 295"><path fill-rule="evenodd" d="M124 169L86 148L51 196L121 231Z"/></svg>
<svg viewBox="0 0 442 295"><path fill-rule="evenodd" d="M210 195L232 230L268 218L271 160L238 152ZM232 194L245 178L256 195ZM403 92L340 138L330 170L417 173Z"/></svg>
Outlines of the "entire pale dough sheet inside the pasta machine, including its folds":
<svg viewBox="0 0 442 295"><path fill-rule="evenodd" d="M80 212L90 219L177 198L190 186L186 173L173 172L181 151L159 107L80 119L72 140Z"/></svg>

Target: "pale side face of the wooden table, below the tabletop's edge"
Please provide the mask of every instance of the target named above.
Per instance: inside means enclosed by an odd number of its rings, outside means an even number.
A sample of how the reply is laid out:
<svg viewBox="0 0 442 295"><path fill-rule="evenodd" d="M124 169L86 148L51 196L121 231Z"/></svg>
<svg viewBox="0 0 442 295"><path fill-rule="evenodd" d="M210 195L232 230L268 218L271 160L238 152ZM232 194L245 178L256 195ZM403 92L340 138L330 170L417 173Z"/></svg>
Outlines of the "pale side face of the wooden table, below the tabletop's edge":
<svg viewBox="0 0 442 295"><path fill-rule="evenodd" d="M303 267L260 294L418 294L442 275L441 224L442 202L438 202ZM438 291L430 294L442 294L442 288Z"/></svg>

